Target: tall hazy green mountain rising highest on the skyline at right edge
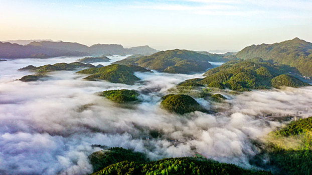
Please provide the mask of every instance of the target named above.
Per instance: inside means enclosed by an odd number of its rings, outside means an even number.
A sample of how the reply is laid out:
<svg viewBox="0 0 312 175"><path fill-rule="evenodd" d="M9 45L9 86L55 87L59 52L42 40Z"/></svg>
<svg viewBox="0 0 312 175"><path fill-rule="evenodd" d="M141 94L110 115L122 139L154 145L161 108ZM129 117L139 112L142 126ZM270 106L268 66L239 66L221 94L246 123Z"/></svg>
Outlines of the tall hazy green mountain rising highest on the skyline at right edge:
<svg viewBox="0 0 312 175"><path fill-rule="evenodd" d="M241 59L261 57L296 67L302 75L312 76L312 43L293 38L279 43L247 46L236 54Z"/></svg>

